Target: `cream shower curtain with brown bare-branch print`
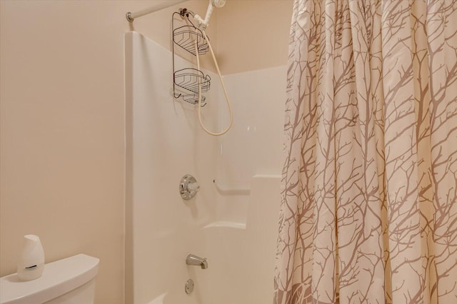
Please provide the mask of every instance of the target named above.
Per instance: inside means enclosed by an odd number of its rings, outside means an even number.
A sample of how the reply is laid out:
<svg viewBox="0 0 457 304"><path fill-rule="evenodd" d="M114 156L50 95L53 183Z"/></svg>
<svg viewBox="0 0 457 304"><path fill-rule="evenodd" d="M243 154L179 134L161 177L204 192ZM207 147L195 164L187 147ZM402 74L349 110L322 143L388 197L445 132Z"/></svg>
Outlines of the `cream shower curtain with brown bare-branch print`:
<svg viewBox="0 0 457 304"><path fill-rule="evenodd" d="M274 303L457 303L457 1L296 0Z"/></svg>

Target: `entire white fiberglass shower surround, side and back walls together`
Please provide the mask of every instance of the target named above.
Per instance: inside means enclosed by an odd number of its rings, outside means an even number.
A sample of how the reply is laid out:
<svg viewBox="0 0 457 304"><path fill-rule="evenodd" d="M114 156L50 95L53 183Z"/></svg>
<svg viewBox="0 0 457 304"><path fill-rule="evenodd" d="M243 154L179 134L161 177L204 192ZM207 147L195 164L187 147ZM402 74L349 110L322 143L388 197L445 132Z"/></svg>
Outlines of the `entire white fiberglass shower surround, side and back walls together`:
<svg viewBox="0 0 457 304"><path fill-rule="evenodd" d="M194 67L179 58L176 64ZM172 98L171 69L171 52L141 34L126 34L127 300L268 303L281 172L283 112L277 112L286 69L224 77L234 121L219 138L201 130L196 106ZM219 79L205 73L211 76L205 123L224 128ZM186 173L200 184L190 201L179 196ZM186 265L188 253L207 258L209 268ZM187 295L189 278L195 288Z"/></svg>

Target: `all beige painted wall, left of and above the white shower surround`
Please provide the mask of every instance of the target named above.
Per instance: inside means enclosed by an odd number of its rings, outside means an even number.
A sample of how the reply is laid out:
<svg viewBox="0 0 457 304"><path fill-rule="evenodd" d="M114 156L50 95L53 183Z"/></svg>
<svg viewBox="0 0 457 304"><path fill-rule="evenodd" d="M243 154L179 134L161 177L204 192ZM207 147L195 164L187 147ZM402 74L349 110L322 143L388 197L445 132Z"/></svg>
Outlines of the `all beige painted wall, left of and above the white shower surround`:
<svg viewBox="0 0 457 304"><path fill-rule="evenodd" d="M154 2L0 0L0 275L33 233L46 263L101 258L96 303L124 302L124 33L169 48L180 6L133 27L124 16ZM204 14L207 2L181 6ZM288 6L229 0L216 12L208 32L223 74L286 63Z"/></svg>

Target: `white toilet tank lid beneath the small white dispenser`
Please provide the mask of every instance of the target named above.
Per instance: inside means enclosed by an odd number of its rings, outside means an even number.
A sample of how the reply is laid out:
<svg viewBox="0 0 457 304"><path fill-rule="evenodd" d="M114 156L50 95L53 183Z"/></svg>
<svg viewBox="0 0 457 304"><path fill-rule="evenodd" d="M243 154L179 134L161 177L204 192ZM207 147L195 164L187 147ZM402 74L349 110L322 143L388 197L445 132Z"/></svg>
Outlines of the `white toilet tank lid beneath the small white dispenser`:
<svg viewBox="0 0 457 304"><path fill-rule="evenodd" d="M95 278L99 259L85 254L44 265L36 280L19 281L17 274L0 278L0 304L36 304L68 293Z"/></svg>

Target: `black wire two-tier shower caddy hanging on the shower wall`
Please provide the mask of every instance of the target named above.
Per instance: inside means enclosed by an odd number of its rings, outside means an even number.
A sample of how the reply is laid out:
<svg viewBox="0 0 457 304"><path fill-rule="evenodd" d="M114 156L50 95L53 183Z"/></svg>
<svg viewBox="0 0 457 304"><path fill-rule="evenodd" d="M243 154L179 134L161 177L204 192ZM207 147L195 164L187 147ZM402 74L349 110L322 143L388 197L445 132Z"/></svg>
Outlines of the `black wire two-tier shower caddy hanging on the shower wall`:
<svg viewBox="0 0 457 304"><path fill-rule="evenodd" d="M187 21L188 24L184 26L175 27L175 15L178 14L181 19ZM192 104L199 103L199 83L201 85L201 93L209 91L211 86L211 77L205 75L204 72L194 68L175 69L175 49L174 46L179 46L181 49L196 56L195 44L197 44L197 51L199 55L204 55L209 50L203 33L200 29L196 28L192 21L189 19L189 13L186 9L175 12L171 17L171 25L173 28L173 95L174 98L182 98L184 101ZM179 91L177 91L179 89ZM205 96L201 96L201 106L206 105Z"/></svg>

